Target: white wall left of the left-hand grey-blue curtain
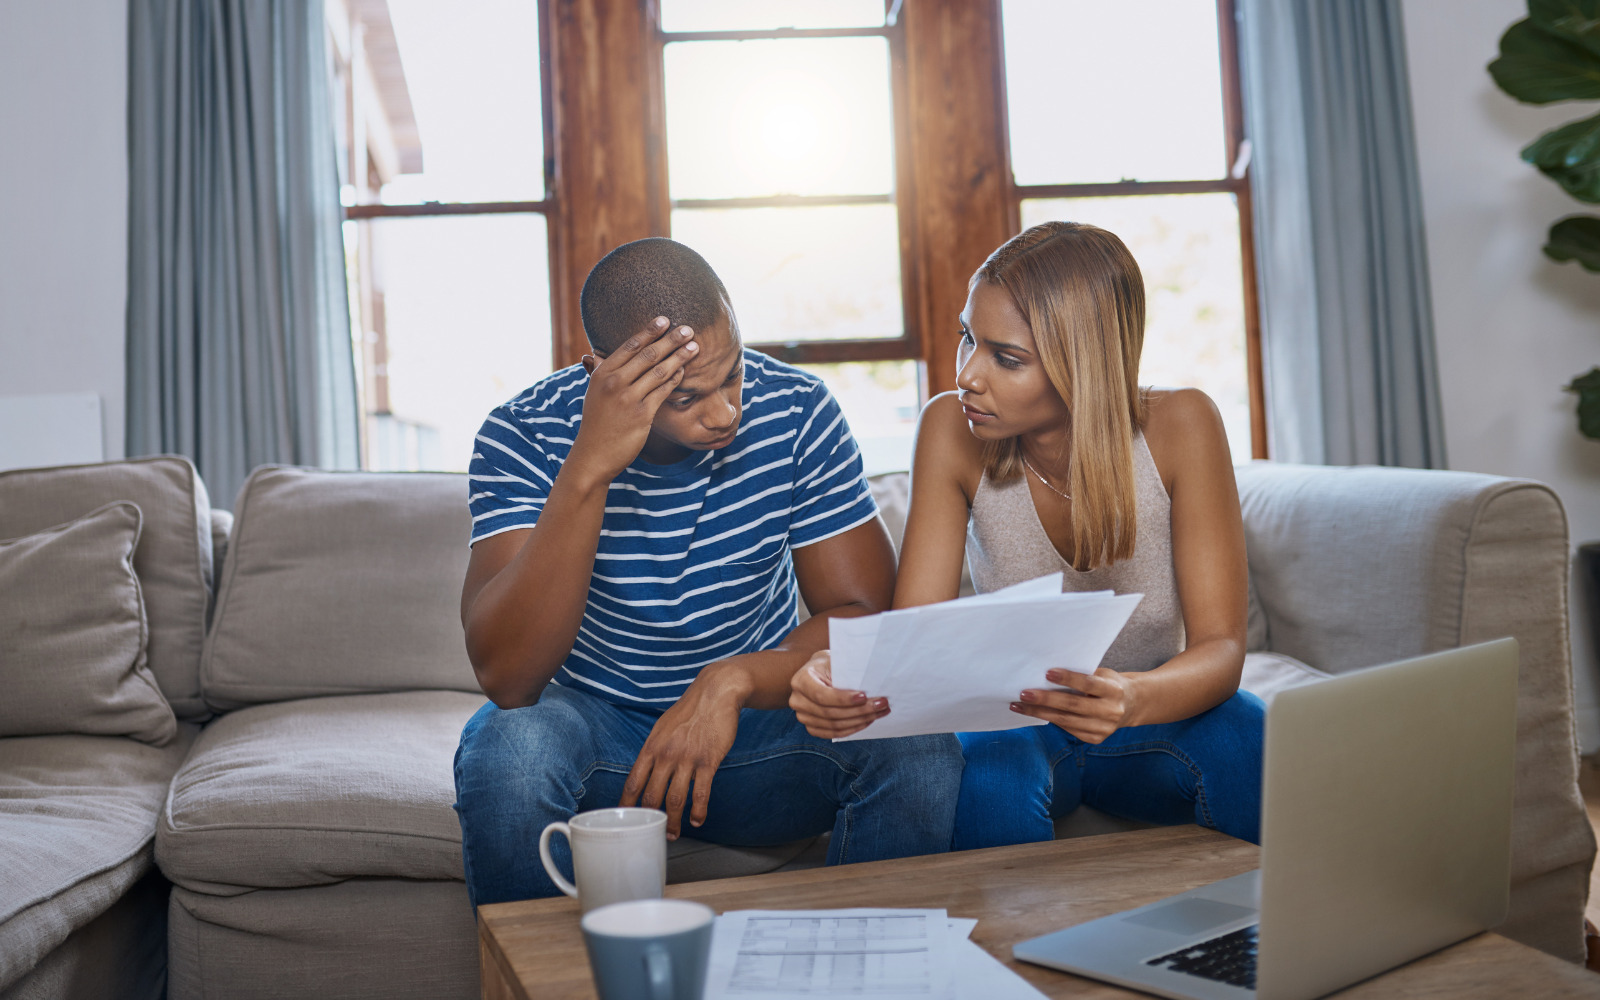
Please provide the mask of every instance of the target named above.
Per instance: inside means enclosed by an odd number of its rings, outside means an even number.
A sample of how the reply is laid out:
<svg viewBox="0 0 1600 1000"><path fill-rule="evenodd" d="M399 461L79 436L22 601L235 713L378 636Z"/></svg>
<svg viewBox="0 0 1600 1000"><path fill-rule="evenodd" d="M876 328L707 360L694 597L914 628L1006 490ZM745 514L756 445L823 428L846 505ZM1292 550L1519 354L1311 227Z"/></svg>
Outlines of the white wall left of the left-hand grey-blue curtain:
<svg viewBox="0 0 1600 1000"><path fill-rule="evenodd" d="M0 395L99 394L107 458L123 454L126 8L0 0Z"/></svg>

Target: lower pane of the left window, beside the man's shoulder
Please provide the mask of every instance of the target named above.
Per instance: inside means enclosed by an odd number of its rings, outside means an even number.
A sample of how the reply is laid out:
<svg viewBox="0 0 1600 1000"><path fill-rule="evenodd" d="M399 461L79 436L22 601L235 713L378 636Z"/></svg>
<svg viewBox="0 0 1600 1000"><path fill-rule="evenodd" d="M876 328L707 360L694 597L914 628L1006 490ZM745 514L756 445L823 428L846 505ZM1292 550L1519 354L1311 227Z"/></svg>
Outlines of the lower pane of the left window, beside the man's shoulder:
<svg viewBox="0 0 1600 1000"><path fill-rule="evenodd" d="M550 373L544 216L346 226L366 234L366 467L466 470L490 410Z"/></svg>

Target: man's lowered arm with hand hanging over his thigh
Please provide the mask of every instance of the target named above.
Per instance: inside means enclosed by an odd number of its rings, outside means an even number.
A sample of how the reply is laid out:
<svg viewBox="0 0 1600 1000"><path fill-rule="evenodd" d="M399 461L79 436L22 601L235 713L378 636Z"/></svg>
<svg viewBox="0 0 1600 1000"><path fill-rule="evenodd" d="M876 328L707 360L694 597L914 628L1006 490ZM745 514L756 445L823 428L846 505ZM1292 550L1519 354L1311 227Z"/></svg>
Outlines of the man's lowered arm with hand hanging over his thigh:
<svg viewBox="0 0 1600 1000"><path fill-rule="evenodd" d="M741 709L789 704L789 678L827 646L827 619L877 614L894 598L894 547L883 520L794 550L800 597L814 613L762 653L746 653L707 666L650 731L618 805L666 810L667 837L678 835L683 805L690 824L706 822L710 782L728 755Z"/></svg>

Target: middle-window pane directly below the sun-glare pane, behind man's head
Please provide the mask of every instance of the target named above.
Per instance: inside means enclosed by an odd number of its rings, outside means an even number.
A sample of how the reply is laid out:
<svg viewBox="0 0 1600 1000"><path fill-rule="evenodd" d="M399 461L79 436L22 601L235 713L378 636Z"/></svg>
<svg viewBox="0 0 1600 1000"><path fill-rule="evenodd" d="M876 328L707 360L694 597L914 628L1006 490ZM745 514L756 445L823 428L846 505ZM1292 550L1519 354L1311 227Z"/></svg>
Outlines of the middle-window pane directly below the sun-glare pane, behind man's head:
<svg viewBox="0 0 1600 1000"><path fill-rule="evenodd" d="M672 238L722 277L747 342L898 338L904 330L893 205L680 208Z"/></svg>

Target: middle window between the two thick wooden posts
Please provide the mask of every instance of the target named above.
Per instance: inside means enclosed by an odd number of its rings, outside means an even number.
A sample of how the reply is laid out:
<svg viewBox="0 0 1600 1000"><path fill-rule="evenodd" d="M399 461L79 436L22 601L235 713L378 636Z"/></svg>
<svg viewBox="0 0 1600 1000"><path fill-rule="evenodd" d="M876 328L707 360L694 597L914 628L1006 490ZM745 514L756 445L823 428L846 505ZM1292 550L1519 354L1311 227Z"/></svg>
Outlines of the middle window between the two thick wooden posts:
<svg viewBox="0 0 1600 1000"><path fill-rule="evenodd" d="M654 26L670 235L728 285L746 344L827 382L869 472L907 467L922 402L888 14L661 0Z"/></svg>

